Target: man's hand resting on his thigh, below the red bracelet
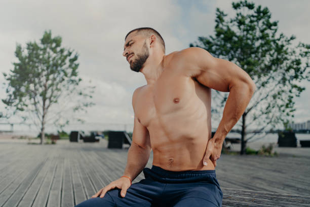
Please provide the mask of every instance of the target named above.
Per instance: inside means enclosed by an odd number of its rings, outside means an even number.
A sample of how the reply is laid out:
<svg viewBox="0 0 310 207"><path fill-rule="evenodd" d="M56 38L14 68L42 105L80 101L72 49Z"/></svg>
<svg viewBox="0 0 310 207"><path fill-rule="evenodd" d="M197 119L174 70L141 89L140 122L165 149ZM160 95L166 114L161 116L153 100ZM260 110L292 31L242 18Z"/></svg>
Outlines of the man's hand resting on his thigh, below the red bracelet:
<svg viewBox="0 0 310 207"><path fill-rule="evenodd" d="M103 198L105 193L111 189L119 188L122 189L121 196L125 197L127 189L131 186L131 181L128 178L122 177L116 181L111 182L109 185L101 188L92 198L96 198L100 195L100 198Z"/></svg>

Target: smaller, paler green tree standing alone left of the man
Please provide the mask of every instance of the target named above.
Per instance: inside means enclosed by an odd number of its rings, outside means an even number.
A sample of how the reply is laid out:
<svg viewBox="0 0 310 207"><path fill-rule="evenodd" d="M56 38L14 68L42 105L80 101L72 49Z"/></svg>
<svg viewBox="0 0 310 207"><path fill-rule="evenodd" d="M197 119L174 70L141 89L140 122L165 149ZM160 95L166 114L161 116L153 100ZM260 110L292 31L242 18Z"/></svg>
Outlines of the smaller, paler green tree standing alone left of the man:
<svg viewBox="0 0 310 207"><path fill-rule="evenodd" d="M40 127L41 144L47 123L63 127L72 119L64 121L63 113L68 109L83 111L93 105L90 99L94 87L79 87L79 55L61 47L61 42L61 37L45 31L38 44L28 42L25 48L17 44L14 69L4 73L8 96L2 101L7 109L13 109L13 115L19 112L24 120L31 118Z"/></svg>

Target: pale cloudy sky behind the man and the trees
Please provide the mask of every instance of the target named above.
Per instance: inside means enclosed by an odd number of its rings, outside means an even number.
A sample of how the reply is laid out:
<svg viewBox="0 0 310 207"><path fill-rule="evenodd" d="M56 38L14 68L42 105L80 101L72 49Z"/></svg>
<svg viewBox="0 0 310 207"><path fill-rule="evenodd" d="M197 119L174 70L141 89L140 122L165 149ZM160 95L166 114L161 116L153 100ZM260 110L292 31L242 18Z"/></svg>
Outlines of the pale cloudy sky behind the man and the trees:
<svg viewBox="0 0 310 207"><path fill-rule="evenodd" d="M279 31L297 41L310 43L310 2L255 1L267 6ZM38 41L45 30L61 36L63 46L80 54L79 73L84 85L95 85L96 106L81 116L86 125L98 128L108 123L132 124L132 93L145 85L142 73L132 72L122 56L124 36L137 27L157 29L166 42L166 52L187 48L199 36L214 34L215 9L232 14L231 1L6 1L0 2L0 82L15 61L16 43ZM91 83L89 83L91 81ZM310 84L296 98L295 122L310 119ZM6 96L0 89L0 96ZM4 105L0 103L0 111ZM6 120L0 120L4 122ZM69 126L67 129L74 129Z"/></svg>

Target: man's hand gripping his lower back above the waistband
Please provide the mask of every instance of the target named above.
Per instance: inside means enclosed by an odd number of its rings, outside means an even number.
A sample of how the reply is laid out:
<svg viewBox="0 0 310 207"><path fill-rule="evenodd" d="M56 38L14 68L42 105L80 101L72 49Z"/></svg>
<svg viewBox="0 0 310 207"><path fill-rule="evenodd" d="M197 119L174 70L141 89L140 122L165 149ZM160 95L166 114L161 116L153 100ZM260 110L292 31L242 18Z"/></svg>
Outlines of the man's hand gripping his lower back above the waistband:
<svg viewBox="0 0 310 207"><path fill-rule="evenodd" d="M220 158L223 146L222 143L216 141L217 140L215 137L208 141L205 157L203 159L203 165L207 165L208 159L210 159L214 166L216 166L216 160Z"/></svg>

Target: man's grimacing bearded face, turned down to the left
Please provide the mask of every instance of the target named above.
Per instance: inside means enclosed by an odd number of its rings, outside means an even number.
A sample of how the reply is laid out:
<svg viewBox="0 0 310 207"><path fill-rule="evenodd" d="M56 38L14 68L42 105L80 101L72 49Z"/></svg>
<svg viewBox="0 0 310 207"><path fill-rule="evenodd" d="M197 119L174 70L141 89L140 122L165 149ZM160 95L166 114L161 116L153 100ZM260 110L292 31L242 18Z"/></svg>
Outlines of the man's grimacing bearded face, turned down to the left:
<svg viewBox="0 0 310 207"><path fill-rule="evenodd" d="M145 38L129 34L125 41L123 56L126 57L132 71L140 72L149 56Z"/></svg>

